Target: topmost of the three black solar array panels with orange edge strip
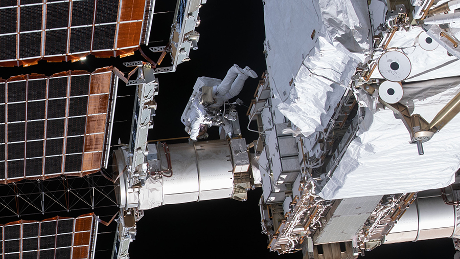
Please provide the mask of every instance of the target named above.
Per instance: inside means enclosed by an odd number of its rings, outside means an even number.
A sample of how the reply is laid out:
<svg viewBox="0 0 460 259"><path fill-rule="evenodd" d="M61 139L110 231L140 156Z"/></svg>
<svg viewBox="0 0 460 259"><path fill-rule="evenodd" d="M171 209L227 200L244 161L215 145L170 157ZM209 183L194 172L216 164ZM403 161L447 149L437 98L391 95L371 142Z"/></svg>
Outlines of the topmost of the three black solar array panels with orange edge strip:
<svg viewBox="0 0 460 259"><path fill-rule="evenodd" d="M154 1L0 2L0 66L27 66L134 52L145 44Z"/></svg>

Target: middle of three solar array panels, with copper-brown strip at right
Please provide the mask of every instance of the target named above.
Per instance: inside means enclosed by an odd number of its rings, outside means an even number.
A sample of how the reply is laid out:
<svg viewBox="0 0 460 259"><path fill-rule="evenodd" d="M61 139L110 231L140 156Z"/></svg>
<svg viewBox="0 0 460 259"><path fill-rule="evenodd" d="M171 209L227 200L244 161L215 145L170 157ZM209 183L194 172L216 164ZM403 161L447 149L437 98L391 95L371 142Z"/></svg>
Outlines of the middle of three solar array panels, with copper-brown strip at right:
<svg viewBox="0 0 460 259"><path fill-rule="evenodd" d="M0 182L101 168L114 111L112 69L0 80Z"/></svg>

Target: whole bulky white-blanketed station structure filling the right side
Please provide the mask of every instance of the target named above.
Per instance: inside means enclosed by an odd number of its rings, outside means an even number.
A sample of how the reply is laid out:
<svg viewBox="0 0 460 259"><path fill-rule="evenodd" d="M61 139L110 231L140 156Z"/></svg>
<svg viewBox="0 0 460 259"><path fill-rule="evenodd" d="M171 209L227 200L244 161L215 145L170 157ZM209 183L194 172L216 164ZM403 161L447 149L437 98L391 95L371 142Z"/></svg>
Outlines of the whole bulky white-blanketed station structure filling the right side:
<svg viewBox="0 0 460 259"><path fill-rule="evenodd" d="M271 251L458 249L459 3L433 2L264 1L267 71L247 116Z"/></svg>

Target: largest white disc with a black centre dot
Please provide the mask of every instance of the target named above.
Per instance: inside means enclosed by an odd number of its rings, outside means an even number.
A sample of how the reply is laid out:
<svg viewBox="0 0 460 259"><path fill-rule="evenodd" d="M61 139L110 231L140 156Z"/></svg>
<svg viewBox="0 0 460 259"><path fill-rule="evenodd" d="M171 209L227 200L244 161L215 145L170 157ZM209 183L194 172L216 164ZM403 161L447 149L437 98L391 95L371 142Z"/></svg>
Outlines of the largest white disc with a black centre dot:
<svg viewBox="0 0 460 259"><path fill-rule="evenodd" d="M387 51L378 61L380 74L388 81L399 82L406 79L411 71L409 58L399 51Z"/></svg>

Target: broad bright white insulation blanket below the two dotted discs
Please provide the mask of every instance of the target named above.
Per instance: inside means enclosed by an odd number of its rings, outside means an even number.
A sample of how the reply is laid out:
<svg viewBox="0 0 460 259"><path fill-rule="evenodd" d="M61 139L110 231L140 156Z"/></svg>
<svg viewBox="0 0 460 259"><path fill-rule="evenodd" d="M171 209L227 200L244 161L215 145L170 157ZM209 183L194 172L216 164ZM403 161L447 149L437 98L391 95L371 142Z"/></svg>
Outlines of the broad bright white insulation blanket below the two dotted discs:
<svg viewBox="0 0 460 259"><path fill-rule="evenodd" d="M427 83L429 81L421 82L422 87ZM413 85L407 85L409 87L417 89ZM442 88L445 91L430 93L425 98L420 98L418 91L411 91L411 98L405 96L413 101L412 114L431 121L460 91L460 80L444 80ZM374 113L365 109L356 138L321 190L321 197L332 200L415 192L454 182L455 171L460 167L460 116L425 142L425 155L419 156L417 145L409 144L406 127L391 110Z"/></svg>

